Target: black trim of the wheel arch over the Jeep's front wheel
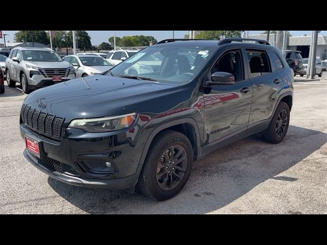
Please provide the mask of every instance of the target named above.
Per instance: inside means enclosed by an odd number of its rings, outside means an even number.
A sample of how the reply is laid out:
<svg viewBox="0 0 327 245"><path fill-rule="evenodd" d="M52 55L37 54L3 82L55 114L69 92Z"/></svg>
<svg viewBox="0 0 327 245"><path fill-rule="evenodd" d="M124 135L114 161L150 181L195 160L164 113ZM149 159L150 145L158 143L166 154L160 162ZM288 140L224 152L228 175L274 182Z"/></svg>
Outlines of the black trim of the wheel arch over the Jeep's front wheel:
<svg viewBox="0 0 327 245"><path fill-rule="evenodd" d="M139 160L139 165L143 165L145 158L148 154L148 151L152 145L153 140L163 130L174 130L184 134L191 142L193 148L193 158L194 160L198 159L202 154L201 149L201 138L199 133L199 128L196 121L190 117L187 118L180 118L174 121L166 122L165 124L161 124L157 126L152 132L150 133L147 142L144 146L141 159Z"/></svg>

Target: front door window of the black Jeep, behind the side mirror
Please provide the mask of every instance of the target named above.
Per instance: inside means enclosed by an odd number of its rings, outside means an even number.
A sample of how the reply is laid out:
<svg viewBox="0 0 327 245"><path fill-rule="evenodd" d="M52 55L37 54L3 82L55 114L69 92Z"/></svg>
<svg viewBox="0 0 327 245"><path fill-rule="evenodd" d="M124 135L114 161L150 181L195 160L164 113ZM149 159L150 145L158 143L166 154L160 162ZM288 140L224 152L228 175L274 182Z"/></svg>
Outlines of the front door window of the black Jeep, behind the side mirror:
<svg viewBox="0 0 327 245"><path fill-rule="evenodd" d="M224 54L215 66L211 69L211 74L217 71L228 72L235 77L235 81L244 79L242 55L240 50L235 50Z"/></svg>

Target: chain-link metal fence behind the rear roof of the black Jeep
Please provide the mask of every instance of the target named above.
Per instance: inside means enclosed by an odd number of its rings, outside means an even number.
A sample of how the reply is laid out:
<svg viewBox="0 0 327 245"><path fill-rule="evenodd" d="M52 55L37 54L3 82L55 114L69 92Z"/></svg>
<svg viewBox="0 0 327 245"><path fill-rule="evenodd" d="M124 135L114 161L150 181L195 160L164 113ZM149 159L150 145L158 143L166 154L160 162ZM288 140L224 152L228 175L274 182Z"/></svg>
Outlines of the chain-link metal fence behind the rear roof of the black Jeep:
<svg viewBox="0 0 327 245"><path fill-rule="evenodd" d="M266 40L270 45L279 48L285 55L290 33L289 31L244 31L242 35L244 38Z"/></svg>

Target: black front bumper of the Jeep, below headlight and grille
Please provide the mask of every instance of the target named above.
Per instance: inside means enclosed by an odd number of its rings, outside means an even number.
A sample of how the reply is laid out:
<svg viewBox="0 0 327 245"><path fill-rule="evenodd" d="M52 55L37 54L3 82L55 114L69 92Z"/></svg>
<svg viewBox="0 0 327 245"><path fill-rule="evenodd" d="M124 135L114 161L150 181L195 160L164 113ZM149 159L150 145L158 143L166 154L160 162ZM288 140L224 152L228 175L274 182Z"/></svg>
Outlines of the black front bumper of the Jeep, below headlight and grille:
<svg viewBox="0 0 327 245"><path fill-rule="evenodd" d="M20 135L39 142L41 158L27 150L24 156L45 174L71 185L107 189L135 186L148 137L136 124L128 130L93 134L67 128L59 141L37 134L21 121ZM107 168L105 162L112 167Z"/></svg>

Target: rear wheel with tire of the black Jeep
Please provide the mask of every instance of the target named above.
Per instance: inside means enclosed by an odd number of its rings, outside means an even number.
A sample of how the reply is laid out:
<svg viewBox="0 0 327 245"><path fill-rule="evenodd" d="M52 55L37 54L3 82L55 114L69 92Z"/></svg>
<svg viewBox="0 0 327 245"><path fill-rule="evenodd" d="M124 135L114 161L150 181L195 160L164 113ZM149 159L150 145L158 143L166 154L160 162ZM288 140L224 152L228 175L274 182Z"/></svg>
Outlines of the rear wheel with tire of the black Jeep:
<svg viewBox="0 0 327 245"><path fill-rule="evenodd" d="M284 116L283 113L286 113L285 114L287 117L286 119L285 117L283 117ZM279 118L281 118L281 120L279 120ZM281 124L278 123L278 121L281 121L282 126ZM265 133L262 135L263 139L273 144L282 142L282 140L285 138L285 135L287 133L289 123L290 123L290 108L285 102L281 101L270 121L268 128L266 129ZM283 125L285 127L283 127ZM279 131L277 127L281 128L281 130ZM283 131L282 134L281 131Z"/></svg>

